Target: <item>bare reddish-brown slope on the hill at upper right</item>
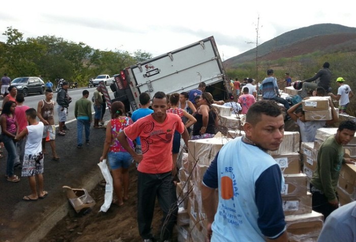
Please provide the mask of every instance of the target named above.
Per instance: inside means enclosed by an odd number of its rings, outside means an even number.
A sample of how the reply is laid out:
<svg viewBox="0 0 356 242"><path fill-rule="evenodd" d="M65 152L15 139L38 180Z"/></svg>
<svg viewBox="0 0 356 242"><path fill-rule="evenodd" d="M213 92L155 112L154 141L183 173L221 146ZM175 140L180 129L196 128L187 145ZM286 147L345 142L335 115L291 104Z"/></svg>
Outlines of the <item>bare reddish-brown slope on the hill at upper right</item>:
<svg viewBox="0 0 356 242"><path fill-rule="evenodd" d="M354 42L356 42L356 34L350 33L316 36L291 44L283 49L278 49L277 47L271 53L259 57L259 61L272 61L326 49L345 50L348 44Z"/></svg>

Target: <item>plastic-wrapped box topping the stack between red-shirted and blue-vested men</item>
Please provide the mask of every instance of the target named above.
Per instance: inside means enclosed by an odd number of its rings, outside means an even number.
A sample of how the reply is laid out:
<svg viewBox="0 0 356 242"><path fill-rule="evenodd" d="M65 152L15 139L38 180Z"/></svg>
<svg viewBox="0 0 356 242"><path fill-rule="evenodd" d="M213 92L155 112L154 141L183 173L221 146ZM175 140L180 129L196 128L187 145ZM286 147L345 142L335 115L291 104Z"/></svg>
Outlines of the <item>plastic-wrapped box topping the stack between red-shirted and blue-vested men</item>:
<svg viewBox="0 0 356 242"><path fill-rule="evenodd" d="M221 147L230 140L231 139L225 137L189 140L188 162L192 164L192 167L197 162L198 164L210 165ZM192 170L188 170L188 172L191 171Z"/></svg>

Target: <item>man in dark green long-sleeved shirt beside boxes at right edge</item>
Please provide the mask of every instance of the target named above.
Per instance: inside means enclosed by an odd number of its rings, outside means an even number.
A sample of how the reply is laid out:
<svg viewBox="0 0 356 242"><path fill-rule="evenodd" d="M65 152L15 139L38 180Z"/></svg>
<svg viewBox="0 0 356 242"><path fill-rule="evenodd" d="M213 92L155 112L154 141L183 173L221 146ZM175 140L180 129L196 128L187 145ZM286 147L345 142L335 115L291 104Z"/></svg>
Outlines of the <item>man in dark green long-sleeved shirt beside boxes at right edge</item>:
<svg viewBox="0 0 356 242"><path fill-rule="evenodd" d="M336 134L322 142L319 148L316 170L310 181L310 192L312 193L313 210L321 213L324 219L339 207L336 187L341 164L355 164L355 160L343 158L342 147L353 139L355 131L356 124L354 122L343 121Z"/></svg>

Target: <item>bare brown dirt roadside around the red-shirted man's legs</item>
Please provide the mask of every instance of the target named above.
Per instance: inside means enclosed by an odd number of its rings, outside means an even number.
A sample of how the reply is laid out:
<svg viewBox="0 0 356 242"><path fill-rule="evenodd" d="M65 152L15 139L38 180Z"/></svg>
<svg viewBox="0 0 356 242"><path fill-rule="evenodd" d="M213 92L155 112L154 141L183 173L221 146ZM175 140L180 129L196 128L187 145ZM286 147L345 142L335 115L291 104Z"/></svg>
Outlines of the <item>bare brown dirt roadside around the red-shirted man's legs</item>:
<svg viewBox="0 0 356 242"><path fill-rule="evenodd" d="M62 241L96 241L96 242L126 242L142 241L137 228L137 173L136 168L130 168L129 200L121 207L111 205L106 213L99 212L104 203L105 185L104 180L99 183L90 195L96 201L96 205L87 213L79 213L70 210L68 215L59 221L54 228L44 237L41 242ZM115 195L114 195L115 197ZM156 202L153 231L159 230L162 213ZM171 241L176 241L174 232Z"/></svg>

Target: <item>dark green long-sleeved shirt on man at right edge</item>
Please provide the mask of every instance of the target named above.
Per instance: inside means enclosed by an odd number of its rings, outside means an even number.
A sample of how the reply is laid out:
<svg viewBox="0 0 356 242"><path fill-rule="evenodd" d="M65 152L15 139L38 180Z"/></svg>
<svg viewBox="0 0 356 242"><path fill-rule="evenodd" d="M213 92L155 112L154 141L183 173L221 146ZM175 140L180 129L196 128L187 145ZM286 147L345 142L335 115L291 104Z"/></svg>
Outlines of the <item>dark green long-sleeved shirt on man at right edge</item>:
<svg viewBox="0 0 356 242"><path fill-rule="evenodd" d="M343 161L343 148L334 135L322 142L317 158L316 170L310 183L324 193L328 201L336 200L336 187Z"/></svg>

